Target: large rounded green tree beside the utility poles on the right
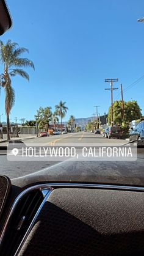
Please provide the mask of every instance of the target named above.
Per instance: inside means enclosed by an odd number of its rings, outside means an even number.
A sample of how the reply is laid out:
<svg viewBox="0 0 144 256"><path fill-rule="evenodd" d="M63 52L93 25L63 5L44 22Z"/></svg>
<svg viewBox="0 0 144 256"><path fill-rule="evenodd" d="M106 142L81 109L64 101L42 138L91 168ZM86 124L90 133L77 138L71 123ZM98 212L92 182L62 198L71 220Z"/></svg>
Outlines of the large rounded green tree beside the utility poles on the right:
<svg viewBox="0 0 144 256"><path fill-rule="evenodd" d="M137 101L124 101L124 120L122 112L121 100L113 102L113 124L115 125L124 125L132 120L140 119L142 117L141 109L137 104ZM109 107L108 112L108 121L109 125L111 123L111 107Z"/></svg>

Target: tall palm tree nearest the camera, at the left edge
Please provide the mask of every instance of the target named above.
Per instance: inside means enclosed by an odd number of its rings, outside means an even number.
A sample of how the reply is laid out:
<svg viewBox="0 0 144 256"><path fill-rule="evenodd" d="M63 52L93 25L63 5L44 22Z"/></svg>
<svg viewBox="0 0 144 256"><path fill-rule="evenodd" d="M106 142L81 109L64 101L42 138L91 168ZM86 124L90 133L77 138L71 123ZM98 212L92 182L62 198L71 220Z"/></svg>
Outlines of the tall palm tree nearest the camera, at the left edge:
<svg viewBox="0 0 144 256"><path fill-rule="evenodd" d="M20 75L29 81L29 75L22 67L32 67L34 64L21 54L29 53L28 49L20 48L18 43L8 40L7 43L0 41L0 60L4 66L4 73L0 75L1 87L5 90L5 114L7 115L7 139L10 139L10 111L15 103L15 90L12 87L12 76Z"/></svg>

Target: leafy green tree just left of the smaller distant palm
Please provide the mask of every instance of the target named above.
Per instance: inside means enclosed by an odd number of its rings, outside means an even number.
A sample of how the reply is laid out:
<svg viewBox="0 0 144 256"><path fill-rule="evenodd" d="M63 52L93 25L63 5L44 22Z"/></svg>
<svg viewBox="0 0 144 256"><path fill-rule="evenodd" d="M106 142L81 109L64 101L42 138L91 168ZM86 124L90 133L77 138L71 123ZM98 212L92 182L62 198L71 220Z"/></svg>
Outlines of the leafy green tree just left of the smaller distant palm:
<svg viewBox="0 0 144 256"><path fill-rule="evenodd" d="M46 131L48 131L49 122L51 121L51 107L42 108L40 107L37 110L37 122L38 122L38 128L43 129L45 128Z"/></svg>

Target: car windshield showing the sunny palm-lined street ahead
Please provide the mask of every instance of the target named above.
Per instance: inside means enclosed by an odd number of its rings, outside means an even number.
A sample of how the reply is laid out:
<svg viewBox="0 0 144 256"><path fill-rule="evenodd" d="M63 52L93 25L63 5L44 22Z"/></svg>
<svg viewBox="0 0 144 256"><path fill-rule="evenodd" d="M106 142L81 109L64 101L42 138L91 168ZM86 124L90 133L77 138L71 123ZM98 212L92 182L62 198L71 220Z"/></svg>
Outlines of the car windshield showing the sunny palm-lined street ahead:
<svg viewBox="0 0 144 256"><path fill-rule="evenodd" d="M0 174L143 184L143 1L7 4Z"/></svg>

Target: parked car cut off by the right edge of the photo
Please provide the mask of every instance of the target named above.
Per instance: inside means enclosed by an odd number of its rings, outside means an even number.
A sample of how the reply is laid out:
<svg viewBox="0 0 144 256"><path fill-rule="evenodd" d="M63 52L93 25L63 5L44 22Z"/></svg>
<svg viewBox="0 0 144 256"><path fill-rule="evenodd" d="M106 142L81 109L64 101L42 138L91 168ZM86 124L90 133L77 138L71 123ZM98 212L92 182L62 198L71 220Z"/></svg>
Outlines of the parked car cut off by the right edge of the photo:
<svg viewBox="0 0 144 256"><path fill-rule="evenodd" d="M139 145L144 145L144 121L138 123L135 128L131 127L129 141L139 141Z"/></svg>

